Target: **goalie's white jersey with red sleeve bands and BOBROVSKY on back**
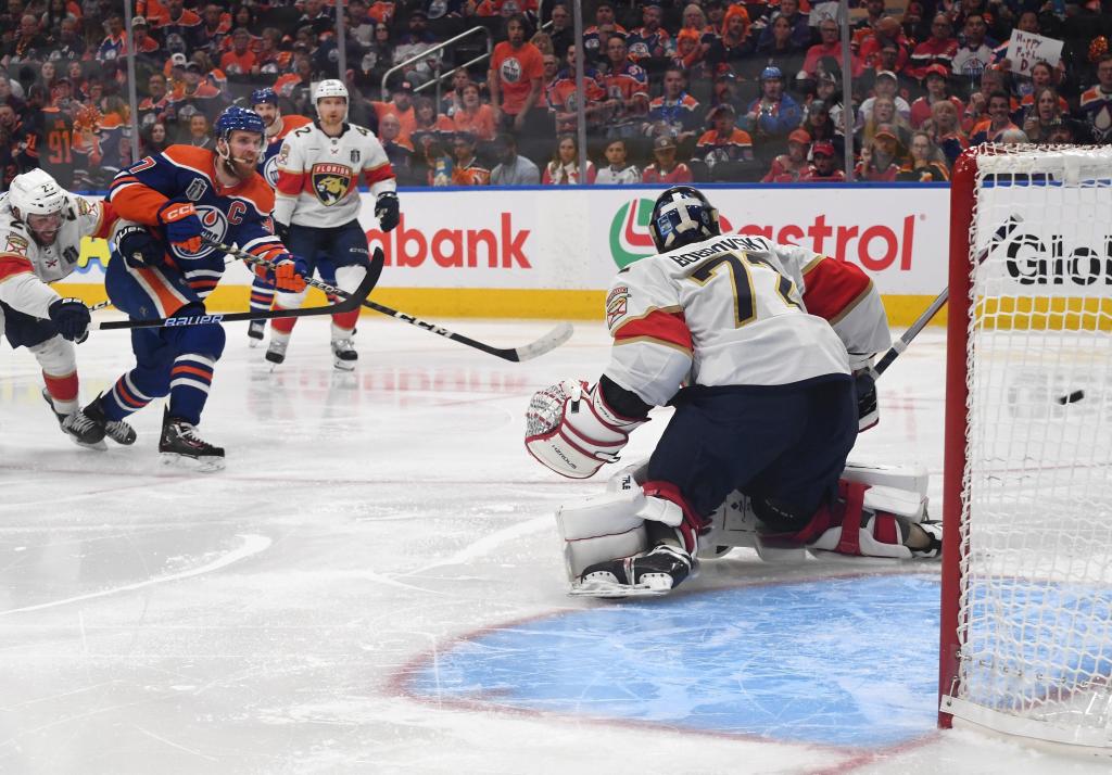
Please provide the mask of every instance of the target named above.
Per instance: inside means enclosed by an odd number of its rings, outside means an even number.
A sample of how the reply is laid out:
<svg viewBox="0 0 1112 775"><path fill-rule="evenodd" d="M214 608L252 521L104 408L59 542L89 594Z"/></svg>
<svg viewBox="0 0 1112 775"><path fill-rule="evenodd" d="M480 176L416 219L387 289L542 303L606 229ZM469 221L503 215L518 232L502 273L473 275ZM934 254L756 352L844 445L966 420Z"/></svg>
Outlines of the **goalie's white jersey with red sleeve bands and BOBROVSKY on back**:
<svg viewBox="0 0 1112 775"><path fill-rule="evenodd" d="M626 267L606 297L606 322L614 337L606 376L656 406L685 382L848 375L851 352L862 359L891 345L880 295L861 269L741 235Z"/></svg>

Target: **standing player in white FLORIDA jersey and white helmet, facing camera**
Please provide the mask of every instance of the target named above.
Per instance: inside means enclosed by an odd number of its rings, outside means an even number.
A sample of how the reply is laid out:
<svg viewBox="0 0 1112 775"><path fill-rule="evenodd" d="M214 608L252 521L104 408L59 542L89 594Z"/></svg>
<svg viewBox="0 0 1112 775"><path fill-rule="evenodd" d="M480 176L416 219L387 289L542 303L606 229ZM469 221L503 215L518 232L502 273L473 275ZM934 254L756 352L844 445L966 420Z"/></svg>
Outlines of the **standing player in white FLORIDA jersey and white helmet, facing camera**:
<svg viewBox="0 0 1112 775"><path fill-rule="evenodd" d="M376 197L375 217L383 231L398 225L397 181L386 151L374 132L347 123L348 91L338 80L321 81L314 101L317 120L286 137L278 151L275 229L286 246L302 256L309 270L326 257L336 268L336 285L346 291L359 287L370 258L367 235L359 225L360 177ZM280 292L277 309L296 309L305 292ZM358 354L353 334L359 310L332 316L332 364L355 368ZM286 359L296 318L271 322L266 358Z"/></svg>

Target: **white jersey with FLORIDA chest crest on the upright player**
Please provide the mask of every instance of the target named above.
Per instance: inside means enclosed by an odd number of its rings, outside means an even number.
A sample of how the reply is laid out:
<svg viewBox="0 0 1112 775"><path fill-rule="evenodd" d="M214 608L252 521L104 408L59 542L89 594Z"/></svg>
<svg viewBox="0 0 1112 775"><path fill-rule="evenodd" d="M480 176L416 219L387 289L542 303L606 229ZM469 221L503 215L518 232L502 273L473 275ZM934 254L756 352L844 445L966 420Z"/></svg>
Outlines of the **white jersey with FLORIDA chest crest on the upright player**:
<svg viewBox="0 0 1112 775"><path fill-rule="evenodd" d="M359 177L375 196L397 189L383 143L364 127L329 137L316 121L286 136L278 151L275 220L330 228L359 216Z"/></svg>

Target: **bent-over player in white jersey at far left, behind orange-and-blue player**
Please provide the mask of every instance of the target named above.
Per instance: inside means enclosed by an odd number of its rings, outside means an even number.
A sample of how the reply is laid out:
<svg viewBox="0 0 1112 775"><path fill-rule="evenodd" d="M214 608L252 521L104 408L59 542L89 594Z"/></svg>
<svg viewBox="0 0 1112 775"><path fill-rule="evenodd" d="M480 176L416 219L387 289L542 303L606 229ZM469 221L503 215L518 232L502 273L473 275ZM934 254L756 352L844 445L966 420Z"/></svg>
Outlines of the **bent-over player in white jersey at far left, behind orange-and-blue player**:
<svg viewBox="0 0 1112 775"><path fill-rule="evenodd" d="M136 434L127 423L98 427L78 411L73 342L87 336L89 308L50 284L77 267L82 237L107 237L115 221L108 202L66 191L41 169L17 176L0 197L0 330L39 361L42 397L61 429L93 449L106 448L106 433L118 444L132 444Z"/></svg>

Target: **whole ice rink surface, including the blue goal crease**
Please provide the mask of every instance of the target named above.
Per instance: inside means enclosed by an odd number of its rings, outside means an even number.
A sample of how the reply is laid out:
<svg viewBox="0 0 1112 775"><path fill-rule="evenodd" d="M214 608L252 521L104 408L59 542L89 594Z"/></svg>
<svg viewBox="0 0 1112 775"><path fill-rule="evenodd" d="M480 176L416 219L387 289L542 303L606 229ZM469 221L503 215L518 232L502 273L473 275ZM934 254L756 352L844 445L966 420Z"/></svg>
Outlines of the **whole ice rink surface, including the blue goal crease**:
<svg viewBox="0 0 1112 775"><path fill-rule="evenodd" d="M552 327L441 321L497 346ZM227 470L59 431L0 356L0 773L1108 773L933 726L936 565L770 566L735 550L661 600L565 595L553 519L603 478L523 448L535 389L597 379L579 324L512 364L388 319L358 371L299 322L271 372L228 327L201 435ZM79 347L82 399L131 365ZM942 468L943 335L881 381L857 459ZM636 431L647 456L667 410ZM604 469L604 474L607 473Z"/></svg>

